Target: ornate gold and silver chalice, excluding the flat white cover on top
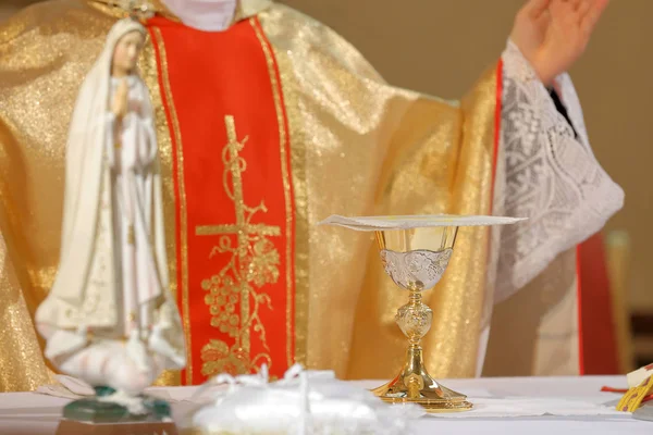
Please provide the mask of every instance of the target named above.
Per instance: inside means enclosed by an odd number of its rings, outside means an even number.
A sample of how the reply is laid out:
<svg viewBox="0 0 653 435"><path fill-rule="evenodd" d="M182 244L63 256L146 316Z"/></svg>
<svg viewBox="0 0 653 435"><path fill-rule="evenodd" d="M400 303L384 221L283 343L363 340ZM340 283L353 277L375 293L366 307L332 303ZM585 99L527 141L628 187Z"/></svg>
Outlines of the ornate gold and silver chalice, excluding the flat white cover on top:
<svg viewBox="0 0 653 435"><path fill-rule="evenodd" d="M422 302L422 293L433 288L454 252L457 226L377 231L385 273L408 290L408 303L397 310L395 321L408 338L406 362L399 374L372 391L391 403L417 403L428 412L456 412L472 408L467 396L443 386L424 365L421 339L431 328L433 311Z"/></svg>

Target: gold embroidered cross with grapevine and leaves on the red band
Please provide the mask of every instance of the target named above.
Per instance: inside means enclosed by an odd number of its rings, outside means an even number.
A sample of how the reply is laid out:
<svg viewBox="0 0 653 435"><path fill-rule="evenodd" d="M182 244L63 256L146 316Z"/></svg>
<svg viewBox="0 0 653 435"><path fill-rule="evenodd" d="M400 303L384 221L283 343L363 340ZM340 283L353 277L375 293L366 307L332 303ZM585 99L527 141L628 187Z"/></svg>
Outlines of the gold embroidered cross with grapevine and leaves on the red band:
<svg viewBox="0 0 653 435"><path fill-rule="evenodd" d="M223 187L227 197L234 202L236 221L233 225L201 225L197 226L198 236L219 235L219 244L210 253L231 254L226 265L210 278L204 279L201 287L208 294L205 302L211 313L211 326L235 338L231 347L222 340L212 339L205 345L200 352L202 360L201 373L211 376L218 373L243 374L250 372L260 363L271 366L272 360L268 353L259 353L251 358L251 327L269 350L266 328L260 321L258 310L261 304L271 307L270 296L257 289L279 279L280 256L270 236L281 236L281 228L263 224L251 224L251 217L268 211L266 204L248 207L243 199L243 173L247 162L239 152L247 142L247 137L238 141L234 117L224 117L227 133L227 144L222 150L224 162ZM231 186L229 183L231 176ZM232 246L232 235L236 235L236 246ZM250 306L250 300L254 307ZM236 314L236 303L241 303L241 314Z"/></svg>

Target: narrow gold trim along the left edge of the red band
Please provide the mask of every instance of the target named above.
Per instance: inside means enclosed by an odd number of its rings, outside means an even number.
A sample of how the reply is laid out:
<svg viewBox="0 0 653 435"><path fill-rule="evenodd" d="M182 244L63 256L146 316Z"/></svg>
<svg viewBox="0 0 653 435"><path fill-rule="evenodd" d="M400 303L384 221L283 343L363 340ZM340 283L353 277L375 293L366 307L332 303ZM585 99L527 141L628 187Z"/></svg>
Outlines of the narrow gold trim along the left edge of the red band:
<svg viewBox="0 0 653 435"><path fill-rule="evenodd" d="M180 216L181 216L181 257L182 257L182 310L184 312L184 334L186 338L186 384L193 385L193 346L190 343L190 307L188 296L188 219L186 214L186 185L184 182L184 147L182 145L182 133L180 129L180 121L174 108L172 98L172 89L170 87L170 76L168 74L168 57L165 53L165 44L161 29L153 28L153 35L159 53L161 57L161 82L165 92L165 99L170 108L170 117L172 120L172 129L174 141L176 144L176 163L177 163L177 183L180 186Z"/></svg>

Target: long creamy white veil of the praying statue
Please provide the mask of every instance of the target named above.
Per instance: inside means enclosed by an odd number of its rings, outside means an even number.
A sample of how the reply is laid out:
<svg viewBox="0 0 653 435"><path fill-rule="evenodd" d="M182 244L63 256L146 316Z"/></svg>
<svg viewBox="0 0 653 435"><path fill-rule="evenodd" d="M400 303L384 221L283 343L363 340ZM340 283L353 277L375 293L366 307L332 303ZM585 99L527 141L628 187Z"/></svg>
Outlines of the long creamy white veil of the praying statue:
<svg viewBox="0 0 653 435"><path fill-rule="evenodd" d="M110 107L111 64L116 44L132 32L146 35L145 27L132 18L121 20L113 25L104 49L86 76L75 103L66 144L60 264L50 294L37 310L37 325L70 327L65 311L78 310L85 300L97 238L100 194L102 183L108 179L104 149L108 138L107 128L110 125L107 115ZM151 111L149 101L145 105ZM153 116L151 113L149 115ZM161 289L163 296L168 297L168 262L158 159L151 171L153 214L150 240L155 250ZM113 231L110 234L112 235ZM110 285L115 286L115 278L110 281ZM115 295L115 291L107 289ZM88 320L90 322L88 326L93 326L94 320Z"/></svg>

